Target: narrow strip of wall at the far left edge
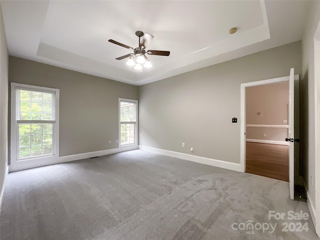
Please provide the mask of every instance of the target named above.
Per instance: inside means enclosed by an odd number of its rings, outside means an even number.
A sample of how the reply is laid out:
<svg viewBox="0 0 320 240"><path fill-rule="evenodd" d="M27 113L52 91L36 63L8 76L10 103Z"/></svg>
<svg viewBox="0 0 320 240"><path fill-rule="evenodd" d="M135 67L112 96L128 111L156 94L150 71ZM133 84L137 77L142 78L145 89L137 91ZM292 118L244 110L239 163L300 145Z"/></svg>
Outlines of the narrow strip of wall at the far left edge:
<svg viewBox="0 0 320 240"><path fill-rule="evenodd" d="M7 170L8 150L8 50L0 5L0 192Z"/></svg>

